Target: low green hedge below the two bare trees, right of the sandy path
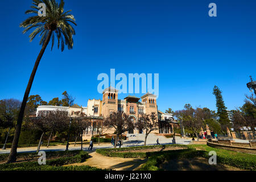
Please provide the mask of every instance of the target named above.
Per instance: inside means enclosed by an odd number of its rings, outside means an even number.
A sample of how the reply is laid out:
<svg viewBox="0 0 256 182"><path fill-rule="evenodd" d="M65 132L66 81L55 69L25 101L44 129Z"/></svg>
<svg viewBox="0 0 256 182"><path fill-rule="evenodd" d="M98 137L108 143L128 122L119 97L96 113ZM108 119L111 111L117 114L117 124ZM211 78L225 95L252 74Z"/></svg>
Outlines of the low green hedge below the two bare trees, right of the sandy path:
<svg viewBox="0 0 256 182"><path fill-rule="evenodd" d="M181 147L188 148L181 144L167 144L167 145L157 145L157 146L138 146L138 147L123 147L123 148L100 148L96 149L98 154L117 157L117 158L148 158L151 153L154 152L136 152L137 150L151 149L151 148L169 148L169 147ZM119 151L134 151L134 152L119 152Z"/></svg>

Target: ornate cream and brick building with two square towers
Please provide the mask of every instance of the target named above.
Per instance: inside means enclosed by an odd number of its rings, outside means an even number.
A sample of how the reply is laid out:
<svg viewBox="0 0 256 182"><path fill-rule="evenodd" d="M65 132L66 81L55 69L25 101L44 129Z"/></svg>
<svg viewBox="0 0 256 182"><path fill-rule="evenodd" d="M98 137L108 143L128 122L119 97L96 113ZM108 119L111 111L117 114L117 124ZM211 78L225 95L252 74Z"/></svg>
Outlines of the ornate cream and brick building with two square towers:
<svg viewBox="0 0 256 182"><path fill-rule="evenodd" d="M141 101L139 101L141 100ZM156 96L151 93L144 94L141 98L135 96L127 96L123 100L118 99L118 90L110 86L106 88L102 93L102 100L88 100L87 106L73 105L70 107L63 106L38 106L36 115L39 111L52 111L60 110L67 111L70 117L75 117L77 113L84 113L91 118L91 127L85 131L85 136L90 137L93 134L97 134L97 122L102 121L111 112L123 111L131 117L134 122L138 121L141 114L154 113L158 117L159 123L171 122L172 127L177 127L177 123L174 121L172 114L166 114L158 110L156 104ZM159 125L159 130L155 130L154 133L173 133L172 127L165 127ZM114 133L114 129L108 131L109 134ZM129 130L129 134L139 134L143 131L138 131L136 128Z"/></svg>

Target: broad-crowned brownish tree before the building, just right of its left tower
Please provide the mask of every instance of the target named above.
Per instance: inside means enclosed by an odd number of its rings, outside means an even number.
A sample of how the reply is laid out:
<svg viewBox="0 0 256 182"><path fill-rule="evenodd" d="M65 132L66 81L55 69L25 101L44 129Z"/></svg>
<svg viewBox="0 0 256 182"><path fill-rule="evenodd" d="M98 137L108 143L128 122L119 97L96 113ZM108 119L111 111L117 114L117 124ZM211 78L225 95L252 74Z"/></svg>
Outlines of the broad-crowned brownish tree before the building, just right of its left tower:
<svg viewBox="0 0 256 182"><path fill-rule="evenodd" d="M134 123L131 121L129 115L123 113L122 111L116 111L110 113L108 117L104 119L104 125L106 127L114 127L116 132L114 148L117 147L117 140L119 140L119 135L122 135L129 129L134 128Z"/></svg>

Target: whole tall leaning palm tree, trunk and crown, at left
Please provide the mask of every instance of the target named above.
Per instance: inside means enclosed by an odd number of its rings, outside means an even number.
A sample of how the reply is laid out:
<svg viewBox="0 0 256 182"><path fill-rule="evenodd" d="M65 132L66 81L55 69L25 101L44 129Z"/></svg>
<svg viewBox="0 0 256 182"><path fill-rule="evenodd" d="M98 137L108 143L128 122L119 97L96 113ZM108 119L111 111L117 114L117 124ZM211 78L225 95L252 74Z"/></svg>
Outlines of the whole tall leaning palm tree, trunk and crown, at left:
<svg viewBox="0 0 256 182"><path fill-rule="evenodd" d="M46 16L38 16L38 11L41 7L38 7L39 3L44 3L46 5ZM25 28L23 30L23 34L28 30L35 28L34 31L29 35L30 42L35 38L36 35L42 36L40 40L40 45L42 45L42 49L39 52L38 58L35 61L34 68L30 75L30 80L27 84L26 92L24 93L22 105L20 107L17 125L15 129L13 144L11 146L11 152L9 155L9 159L7 163L16 162L16 153L19 142L20 130L22 127L22 120L24 115L24 110L27 103L27 98L30 93L30 89L32 86L32 82L35 77L36 69L38 69L39 62L43 56L44 51L50 40L52 39L52 48L55 40L55 36L58 40L58 49L61 44L61 51L64 50L64 46L68 46L68 49L72 49L73 47L73 38L75 35L75 30L71 26L70 23L75 23L75 18L73 15L69 14L71 10L64 12L64 1L61 0L58 3L56 0L33 0L31 6L31 10L27 10L26 14L36 14L35 16L31 16L30 18L24 20L20 24L20 27Z"/></svg>

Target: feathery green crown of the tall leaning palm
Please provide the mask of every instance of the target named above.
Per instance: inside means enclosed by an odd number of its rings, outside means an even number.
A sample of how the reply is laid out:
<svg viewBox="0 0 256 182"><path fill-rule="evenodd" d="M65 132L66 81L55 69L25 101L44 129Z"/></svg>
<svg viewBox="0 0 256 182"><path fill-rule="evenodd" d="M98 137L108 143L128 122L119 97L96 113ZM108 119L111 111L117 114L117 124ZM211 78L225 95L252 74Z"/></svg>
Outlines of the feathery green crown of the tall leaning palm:
<svg viewBox="0 0 256 182"><path fill-rule="evenodd" d="M38 16L39 3L44 3L46 5L46 16ZM76 20L72 14L71 10L64 12L64 1L60 0L32 0L32 6L30 10L27 10L26 14L36 14L31 16L20 23L20 27L23 27L23 34L27 31L35 28L34 31L29 35L30 41L32 41L36 35L42 36L39 44L45 43L49 30L51 30L51 49L53 49L55 43L55 36L57 38L57 48L61 47L61 51L64 51L64 47L67 46L68 49L73 48L73 35L76 35L75 29L71 26L76 24ZM55 35L54 35L55 34Z"/></svg>

